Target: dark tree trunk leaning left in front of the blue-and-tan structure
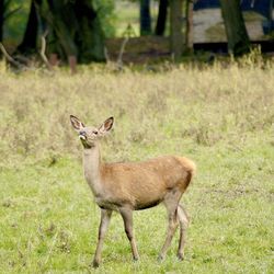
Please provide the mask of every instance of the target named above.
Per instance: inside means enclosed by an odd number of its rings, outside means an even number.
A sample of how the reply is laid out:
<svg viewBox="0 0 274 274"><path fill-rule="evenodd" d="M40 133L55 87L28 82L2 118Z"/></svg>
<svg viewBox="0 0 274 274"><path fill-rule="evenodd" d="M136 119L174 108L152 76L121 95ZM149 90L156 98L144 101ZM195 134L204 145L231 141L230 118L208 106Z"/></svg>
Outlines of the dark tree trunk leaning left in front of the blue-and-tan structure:
<svg viewBox="0 0 274 274"><path fill-rule="evenodd" d="M220 0L228 50L235 56L250 53L250 39L240 8L240 0Z"/></svg>

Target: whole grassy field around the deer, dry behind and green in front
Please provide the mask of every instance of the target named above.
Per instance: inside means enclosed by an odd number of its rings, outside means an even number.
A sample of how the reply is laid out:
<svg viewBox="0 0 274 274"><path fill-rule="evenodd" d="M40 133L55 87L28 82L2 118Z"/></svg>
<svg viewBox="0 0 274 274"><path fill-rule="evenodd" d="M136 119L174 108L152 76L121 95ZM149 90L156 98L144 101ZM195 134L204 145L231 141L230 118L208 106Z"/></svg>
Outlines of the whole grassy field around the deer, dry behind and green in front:
<svg viewBox="0 0 274 274"><path fill-rule="evenodd" d="M273 273L273 62L80 70L16 76L0 65L0 273ZM115 215L102 265L89 266L100 212L69 114L91 125L115 117L105 161L196 162L182 198L192 219L183 262L178 233L157 261L167 226L158 206L134 215L139 262Z"/></svg>

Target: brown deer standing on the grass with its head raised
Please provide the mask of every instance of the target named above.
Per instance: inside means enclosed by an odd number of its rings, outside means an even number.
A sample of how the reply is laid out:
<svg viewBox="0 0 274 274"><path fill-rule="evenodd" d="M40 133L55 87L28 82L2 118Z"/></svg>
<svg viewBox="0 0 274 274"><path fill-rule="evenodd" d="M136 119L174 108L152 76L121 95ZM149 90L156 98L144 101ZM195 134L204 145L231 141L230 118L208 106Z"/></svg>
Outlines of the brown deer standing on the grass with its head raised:
<svg viewBox="0 0 274 274"><path fill-rule="evenodd" d="M180 199L195 173L195 163L179 156L161 156L140 162L104 163L101 160L100 140L112 129L114 118L107 118L99 127L85 126L73 115L70 115L70 122L83 146L85 181L101 209L93 267L101 263L103 241L113 212L119 213L123 218L133 260L137 261L139 253L133 231L133 212L150 208L160 203L168 212L168 230L158 259L164 259L180 226L178 258L183 260L190 217Z"/></svg>

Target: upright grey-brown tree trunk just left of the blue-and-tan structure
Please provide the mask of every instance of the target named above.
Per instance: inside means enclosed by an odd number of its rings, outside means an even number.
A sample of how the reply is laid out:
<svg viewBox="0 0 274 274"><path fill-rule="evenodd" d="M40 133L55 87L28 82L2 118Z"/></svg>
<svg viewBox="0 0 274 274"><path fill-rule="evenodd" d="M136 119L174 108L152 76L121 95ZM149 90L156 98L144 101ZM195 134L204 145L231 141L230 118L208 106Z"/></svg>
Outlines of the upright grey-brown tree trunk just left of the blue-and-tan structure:
<svg viewBox="0 0 274 274"><path fill-rule="evenodd" d="M182 9L183 0L170 0L170 46L174 60L183 53Z"/></svg>

